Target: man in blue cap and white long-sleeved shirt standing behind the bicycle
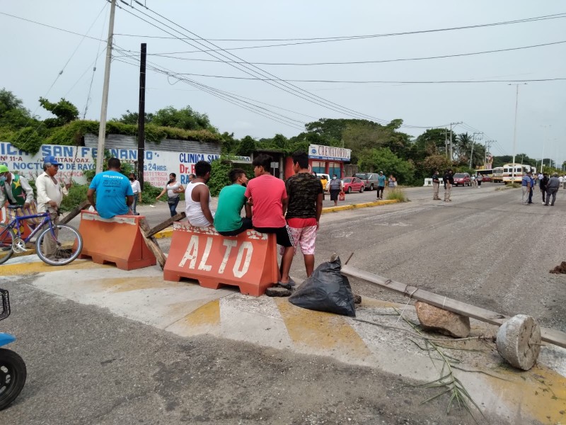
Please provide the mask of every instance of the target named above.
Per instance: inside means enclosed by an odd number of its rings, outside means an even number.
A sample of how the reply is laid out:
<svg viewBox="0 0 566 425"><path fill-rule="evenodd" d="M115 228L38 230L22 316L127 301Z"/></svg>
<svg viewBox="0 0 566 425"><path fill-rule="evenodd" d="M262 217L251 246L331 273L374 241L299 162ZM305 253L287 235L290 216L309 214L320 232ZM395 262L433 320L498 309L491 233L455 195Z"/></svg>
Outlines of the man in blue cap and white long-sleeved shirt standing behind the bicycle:
<svg viewBox="0 0 566 425"><path fill-rule="evenodd" d="M35 179L35 188L37 189L37 212L50 212L53 224L59 222L59 206L63 196L69 194L71 183L62 185L59 180L55 178L55 174L59 171L59 164L57 159L52 155L47 155L43 159L43 173ZM57 228L55 227L55 234ZM52 256L55 252L55 242L52 238L46 237L43 241L45 244L45 254Z"/></svg>

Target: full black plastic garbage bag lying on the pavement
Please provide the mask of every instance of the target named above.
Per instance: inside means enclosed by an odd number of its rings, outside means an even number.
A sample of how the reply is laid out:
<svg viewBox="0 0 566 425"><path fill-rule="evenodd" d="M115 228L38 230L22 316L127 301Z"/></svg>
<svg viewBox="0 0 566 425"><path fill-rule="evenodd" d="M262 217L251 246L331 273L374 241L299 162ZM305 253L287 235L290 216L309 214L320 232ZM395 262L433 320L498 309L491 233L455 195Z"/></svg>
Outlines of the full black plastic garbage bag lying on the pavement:
<svg viewBox="0 0 566 425"><path fill-rule="evenodd" d="M289 297L289 302L308 310L355 317L354 295L348 278L340 274L341 268L340 257L320 264Z"/></svg>

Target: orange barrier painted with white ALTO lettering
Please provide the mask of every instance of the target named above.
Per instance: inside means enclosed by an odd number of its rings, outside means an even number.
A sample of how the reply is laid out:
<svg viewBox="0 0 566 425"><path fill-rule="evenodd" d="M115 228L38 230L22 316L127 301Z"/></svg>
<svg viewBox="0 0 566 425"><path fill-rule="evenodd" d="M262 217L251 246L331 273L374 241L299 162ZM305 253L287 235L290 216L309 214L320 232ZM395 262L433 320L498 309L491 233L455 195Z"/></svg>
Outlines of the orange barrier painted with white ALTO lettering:
<svg viewBox="0 0 566 425"><path fill-rule="evenodd" d="M214 227L175 222L163 279L180 278L198 280L211 289L234 285L243 294L259 297L277 283L275 234L247 230L227 237Z"/></svg>

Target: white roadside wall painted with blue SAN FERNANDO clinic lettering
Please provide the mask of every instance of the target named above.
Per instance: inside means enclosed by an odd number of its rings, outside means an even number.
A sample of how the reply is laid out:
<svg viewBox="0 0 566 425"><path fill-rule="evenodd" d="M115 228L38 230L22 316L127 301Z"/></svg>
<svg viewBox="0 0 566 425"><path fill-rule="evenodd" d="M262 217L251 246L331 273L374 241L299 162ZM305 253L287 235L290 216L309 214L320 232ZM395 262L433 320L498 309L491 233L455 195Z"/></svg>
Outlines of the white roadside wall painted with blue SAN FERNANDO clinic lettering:
<svg viewBox="0 0 566 425"><path fill-rule="evenodd" d="M108 149L110 155L123 163L134 165L137 162L137 149ZM84 146L42 145L37 154L28 154L14 147L11 143L0 142L0 164L27 179L33 179L43 172L43 158L52 155L61 163L59 176L62 181L74 181L86 184L85 171L96 169L98 148ZM146 150L144 158L144 181L151 186L163 187L169 180L169 174L177 174L181 184L189 181L189 174L195 173L195 164L199 161L212 162L218 154L193 152L166 152ZM241 161L251 162L250 157L238 157Z"/></svg>

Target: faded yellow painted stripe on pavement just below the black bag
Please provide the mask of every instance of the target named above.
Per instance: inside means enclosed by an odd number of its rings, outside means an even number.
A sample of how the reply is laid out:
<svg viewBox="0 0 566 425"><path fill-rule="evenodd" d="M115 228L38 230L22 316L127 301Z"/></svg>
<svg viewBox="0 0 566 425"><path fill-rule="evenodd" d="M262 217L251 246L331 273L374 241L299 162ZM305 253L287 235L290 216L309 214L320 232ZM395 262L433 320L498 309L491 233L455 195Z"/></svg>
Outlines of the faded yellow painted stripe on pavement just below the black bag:
<svg viewBox="0 0 566 425"><path fill-rule="evenodd" d="M311 348L339 348L360 359L371 356L369 348L344 317L296 307L287 298L274 300L294 343Z"/></svg>

